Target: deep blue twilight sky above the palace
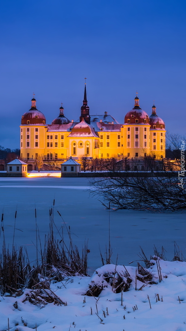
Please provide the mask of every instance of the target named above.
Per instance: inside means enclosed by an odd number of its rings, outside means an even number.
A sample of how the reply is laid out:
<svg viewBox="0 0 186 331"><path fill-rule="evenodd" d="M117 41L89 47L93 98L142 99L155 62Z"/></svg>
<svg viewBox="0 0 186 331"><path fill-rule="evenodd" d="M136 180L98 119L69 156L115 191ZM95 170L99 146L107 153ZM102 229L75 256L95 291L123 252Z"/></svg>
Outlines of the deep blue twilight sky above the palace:
<svg viewBox="0 0 186 331"><path fill-rule="evenodd" d="M77 120L84 77L90 114L120 123L140 106L170 132L185 134L186 2L184 0L2 1L0 145L19 148L21 116L33 91L47 123Z"/></svg>

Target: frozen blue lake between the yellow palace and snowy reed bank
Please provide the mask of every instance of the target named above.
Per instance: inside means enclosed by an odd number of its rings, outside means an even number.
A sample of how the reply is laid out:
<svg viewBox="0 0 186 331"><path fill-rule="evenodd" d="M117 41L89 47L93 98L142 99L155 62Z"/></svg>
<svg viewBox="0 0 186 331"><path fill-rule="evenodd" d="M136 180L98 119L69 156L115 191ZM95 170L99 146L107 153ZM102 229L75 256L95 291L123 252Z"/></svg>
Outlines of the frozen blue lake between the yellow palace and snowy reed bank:
<svg viewBox="0 0 186 331"><path fill-rule="evenodd" d="M17 208L15 243L24 245L31 259L35 259L35 206L37 223L42 241L48 232L49 208L55 199L55 223L58 228L70 225L74 243L79 247L89 239L89 266L101 266L99 245L105 252L108 246L108 210L90 196L87 178L0 178L0 205L4 213L6 242L11 244L14 216ZM139 245L147 257L153 254L153 244L167 251L167 259L173 258L174 241L186 257L184 213L150 213L120 210L110 213L110 237L112 260L126 264L138 259ZM21 230L21 231L20 231ZM0 241L2 244L2 233ZM134 264L133 264L134 265Z"/></svg>

